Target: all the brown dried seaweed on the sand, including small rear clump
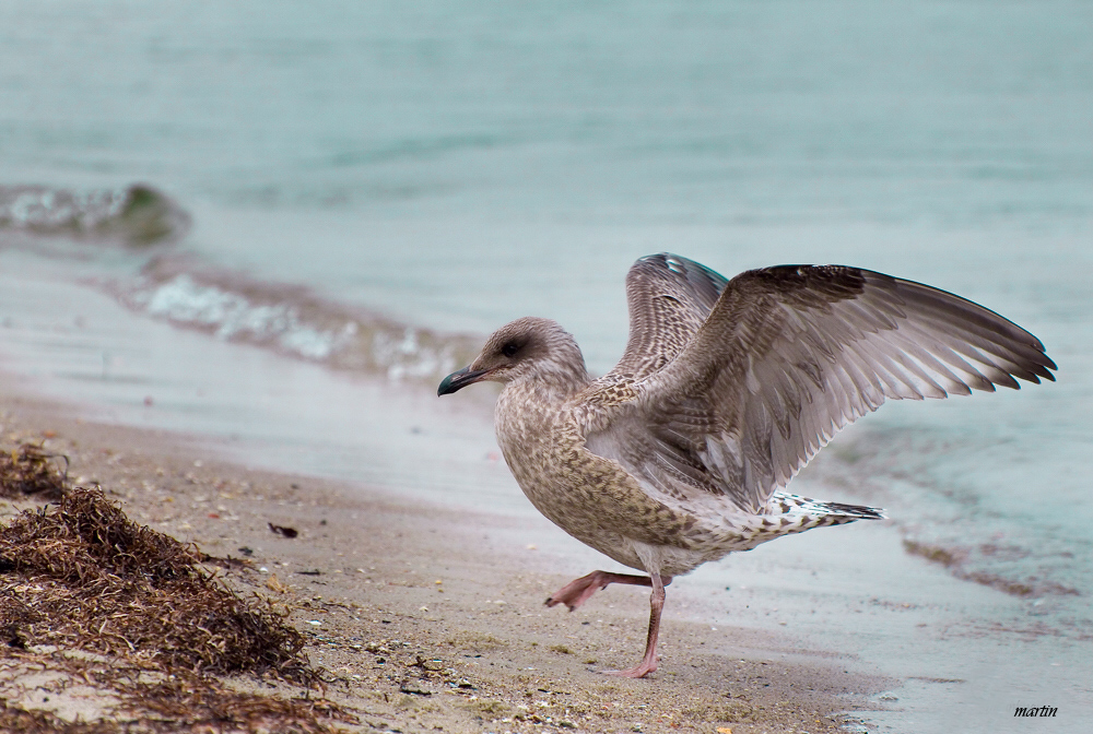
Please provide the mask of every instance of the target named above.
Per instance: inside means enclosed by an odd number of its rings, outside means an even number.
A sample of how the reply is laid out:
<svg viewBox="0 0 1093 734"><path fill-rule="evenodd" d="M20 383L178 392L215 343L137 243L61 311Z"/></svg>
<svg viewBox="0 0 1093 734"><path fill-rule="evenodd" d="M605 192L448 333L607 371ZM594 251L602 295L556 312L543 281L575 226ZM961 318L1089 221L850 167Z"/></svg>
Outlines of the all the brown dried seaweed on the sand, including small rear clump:
<svg viewBox="0 0 1093 734"><path fill-rule="evenodd" d="M9 459L0 494L27 494L20 487L49 473L40 452ZM286 609L240 596L195 546L132 522L102 489L70 488L56 469L51 476L56 505L0 525L0 659L28 674L63 674L36 688L61 695L80 682L116 702L89 723L0 697L0 731L330 732L333 721L355 721L310 696L320 673L302 656L305 640ZM220 677L238 674L305 695L242 692Z"/></svg>

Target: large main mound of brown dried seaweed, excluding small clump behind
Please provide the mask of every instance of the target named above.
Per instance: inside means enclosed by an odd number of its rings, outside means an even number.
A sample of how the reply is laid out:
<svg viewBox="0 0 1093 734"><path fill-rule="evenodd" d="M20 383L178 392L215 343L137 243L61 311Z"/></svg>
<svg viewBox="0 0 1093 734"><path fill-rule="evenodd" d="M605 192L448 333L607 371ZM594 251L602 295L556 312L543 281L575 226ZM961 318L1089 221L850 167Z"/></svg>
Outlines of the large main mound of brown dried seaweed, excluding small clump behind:
<svg viewBox="0 0 1093 734"><path fill-rule="evenodd" d="M19 603L33 613L21 634L34 644L154 650L172 670L308 679L303 639L283 614L238 596L203 558L129 520L101 489L77 488L0 529L0 618L20 585ZM109 634L101 632L106 621Z"/></svg>

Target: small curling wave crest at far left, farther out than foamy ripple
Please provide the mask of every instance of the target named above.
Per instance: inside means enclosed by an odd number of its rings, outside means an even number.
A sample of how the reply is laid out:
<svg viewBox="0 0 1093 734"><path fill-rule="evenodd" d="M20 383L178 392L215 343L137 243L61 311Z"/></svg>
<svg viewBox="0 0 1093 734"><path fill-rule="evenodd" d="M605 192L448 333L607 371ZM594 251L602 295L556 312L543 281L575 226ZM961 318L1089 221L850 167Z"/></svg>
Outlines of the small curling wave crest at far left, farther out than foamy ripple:
<svg viewBox="0 0 1093 734"><path fill-rule="evenodd" d="M83 191L0 186L0 230L145 246L174 241L189 226L185 211L143 183Z"/></svg>

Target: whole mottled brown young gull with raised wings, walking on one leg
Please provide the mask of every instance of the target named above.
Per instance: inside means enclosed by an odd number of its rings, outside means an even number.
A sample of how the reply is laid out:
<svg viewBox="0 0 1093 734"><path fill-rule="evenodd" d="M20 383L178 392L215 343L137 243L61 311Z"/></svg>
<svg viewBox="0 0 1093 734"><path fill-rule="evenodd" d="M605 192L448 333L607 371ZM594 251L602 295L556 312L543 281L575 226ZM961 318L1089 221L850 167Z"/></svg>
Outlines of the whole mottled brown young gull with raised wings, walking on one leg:
<svg viewBox="0 0 1093 734"><path fill-rule="evenodd" d="M969 300L842 265L778 265L731 281L675 254L626 276L630 340L592 380L549 319L502 327L444 395L505 384L505 461L532 505L578 541L648 576L592 571L548 606L610 583L653 588L642 662L657 670L665 587L733 550L812 528L883 518L783 489L842 428L885 399L921 400L1054 380L1039 340Z"/></svg>

